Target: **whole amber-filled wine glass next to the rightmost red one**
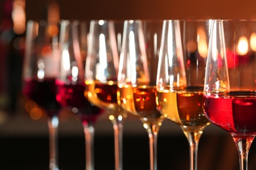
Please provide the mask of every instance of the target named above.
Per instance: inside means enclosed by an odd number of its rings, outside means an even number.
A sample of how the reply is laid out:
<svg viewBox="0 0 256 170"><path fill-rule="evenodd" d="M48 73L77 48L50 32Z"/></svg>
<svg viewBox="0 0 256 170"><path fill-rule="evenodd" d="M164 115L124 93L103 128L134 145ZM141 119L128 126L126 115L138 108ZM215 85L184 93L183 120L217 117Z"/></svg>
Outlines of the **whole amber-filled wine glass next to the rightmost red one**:
<svg viewBox="0 0 256 170"><path fill-rule="evenodd" d="M202 99L210 23L166 20L158 66L158 108L188 139L191 170L197 169L198 143L209 125Z"/></svg>

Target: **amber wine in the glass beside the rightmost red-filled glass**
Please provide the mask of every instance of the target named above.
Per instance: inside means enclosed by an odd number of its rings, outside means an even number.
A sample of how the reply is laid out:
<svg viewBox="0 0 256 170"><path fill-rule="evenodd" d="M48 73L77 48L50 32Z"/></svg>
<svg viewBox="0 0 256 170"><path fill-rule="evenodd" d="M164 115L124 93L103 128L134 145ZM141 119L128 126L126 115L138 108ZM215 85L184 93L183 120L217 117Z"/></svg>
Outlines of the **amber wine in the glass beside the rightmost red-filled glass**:
<svg viewBox="0 0 256 170"><path fill-rule="evenodd" d="M158 91L158 109L165 117L182 126L206 126L202 88L186 88L181 92Z"/></svg>

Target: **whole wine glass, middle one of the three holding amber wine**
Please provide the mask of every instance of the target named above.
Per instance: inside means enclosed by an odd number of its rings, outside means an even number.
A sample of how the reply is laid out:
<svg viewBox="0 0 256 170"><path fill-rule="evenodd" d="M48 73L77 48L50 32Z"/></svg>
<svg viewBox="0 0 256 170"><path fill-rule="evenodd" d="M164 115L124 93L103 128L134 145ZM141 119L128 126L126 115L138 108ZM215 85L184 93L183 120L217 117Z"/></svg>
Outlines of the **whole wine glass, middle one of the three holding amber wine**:
<svg viewBox="0 0 256 170"><path fill-rule="evenodd" d="M125 20L117 96L142 121L150 141L150 169L157 169L157 137L163 115L156 107L156 70L163 21Z"/></svg>

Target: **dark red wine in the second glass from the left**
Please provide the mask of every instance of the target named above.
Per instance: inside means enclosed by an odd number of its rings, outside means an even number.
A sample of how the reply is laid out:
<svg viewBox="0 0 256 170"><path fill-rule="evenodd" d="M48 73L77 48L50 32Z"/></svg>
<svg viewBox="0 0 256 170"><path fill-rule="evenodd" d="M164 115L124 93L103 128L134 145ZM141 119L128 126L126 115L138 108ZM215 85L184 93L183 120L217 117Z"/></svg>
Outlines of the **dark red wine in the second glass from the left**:
<svg viewBox="0 0 256 170"><path fill-rule="evenodd" d="M56 80L56 99L62 107L72 108L82 121L95 122L102 110L90 103L84 95L85 84L65 84Z"/></svg>

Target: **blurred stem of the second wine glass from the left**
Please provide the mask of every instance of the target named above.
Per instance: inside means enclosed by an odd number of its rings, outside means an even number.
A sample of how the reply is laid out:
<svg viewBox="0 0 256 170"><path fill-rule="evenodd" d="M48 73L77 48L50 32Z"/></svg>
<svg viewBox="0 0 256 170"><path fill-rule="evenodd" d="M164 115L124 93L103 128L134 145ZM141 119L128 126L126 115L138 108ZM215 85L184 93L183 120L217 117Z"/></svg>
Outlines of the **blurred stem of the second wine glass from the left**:
<svg viewBox="0 0 256 170"><path fill-rule="evenodd" d="M83 131L85 133L85 169L94 170L94 135L95 128L93 122L83 122Z"/></svg>

